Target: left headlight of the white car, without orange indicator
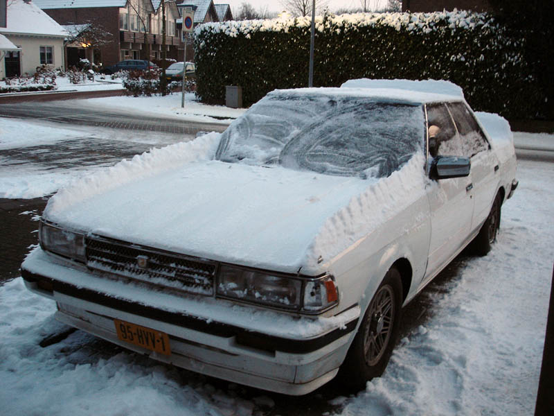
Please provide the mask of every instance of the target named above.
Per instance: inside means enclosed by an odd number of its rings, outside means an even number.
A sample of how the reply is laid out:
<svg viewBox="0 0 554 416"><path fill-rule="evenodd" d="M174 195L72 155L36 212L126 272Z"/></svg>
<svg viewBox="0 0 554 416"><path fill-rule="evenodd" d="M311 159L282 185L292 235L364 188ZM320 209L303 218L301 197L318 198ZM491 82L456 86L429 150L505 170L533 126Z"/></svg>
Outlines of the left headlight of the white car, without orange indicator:
<svg viewBox="0 0 554 416"><path fill-rule="evenodd" d="M42 250L60 254L60 256L84 263L84 234L67 231L60 227L44 223L39 226L39 241Z"/></svg>

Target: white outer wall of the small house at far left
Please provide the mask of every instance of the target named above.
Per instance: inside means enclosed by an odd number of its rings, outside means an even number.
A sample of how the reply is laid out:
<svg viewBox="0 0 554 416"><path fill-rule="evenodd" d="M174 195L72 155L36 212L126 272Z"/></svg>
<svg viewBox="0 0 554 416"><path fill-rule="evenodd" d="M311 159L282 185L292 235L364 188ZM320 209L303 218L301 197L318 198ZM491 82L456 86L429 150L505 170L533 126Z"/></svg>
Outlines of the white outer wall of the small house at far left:
<svg viewBox="0 0 554 416"><path fill-rule="evenodd" d="M53 46L54 56L53 64L48 65L54 69L62 67L64 69L64 40L55 37L36 37L25 35L9 35L3 33L12 44L21 46L21 75L32 76L37 67L40 66L40 46ZM3 60L0 64L0 79L6 76L6 67Z"/></svg>

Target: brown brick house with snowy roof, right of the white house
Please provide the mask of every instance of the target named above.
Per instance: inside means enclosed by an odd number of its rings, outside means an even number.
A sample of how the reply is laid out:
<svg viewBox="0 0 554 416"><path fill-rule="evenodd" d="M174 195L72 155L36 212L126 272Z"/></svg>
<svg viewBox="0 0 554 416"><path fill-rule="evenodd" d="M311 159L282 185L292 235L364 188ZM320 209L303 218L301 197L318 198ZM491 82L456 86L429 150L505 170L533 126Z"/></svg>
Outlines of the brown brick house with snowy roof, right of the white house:
<svg viewBox="0 0 554 416"><path fill-rule="evenodd" d="M96 64L111 65L125 59L162 58L163 12L161 0L34 0L62 25L84 25L110 33L111 42L93 45L84 42L87 58ZM179 11L175 2L165 2L166 57L182 57L183 45L177 28ZM79 26L77 26L79 27ZM70 47L79 48L72 44ZM91 50L90 50L91 49ZM68 48L68 59L74 55ZM82 52L78 52L82 55ZM91 59L92 58L92 59Z"/></svg>

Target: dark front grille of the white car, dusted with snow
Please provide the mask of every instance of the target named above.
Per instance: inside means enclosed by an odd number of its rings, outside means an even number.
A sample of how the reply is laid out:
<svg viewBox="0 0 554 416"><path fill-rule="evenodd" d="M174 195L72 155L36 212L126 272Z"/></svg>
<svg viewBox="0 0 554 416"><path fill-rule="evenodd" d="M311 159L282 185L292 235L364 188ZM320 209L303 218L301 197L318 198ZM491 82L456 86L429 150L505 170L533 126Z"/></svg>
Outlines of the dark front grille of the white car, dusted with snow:
<svg viewBox="0 0 554 416"><path fill-rule="evenodd" d="M210 261L98 237L87 237L85 244L89 268L156 286L213 295L216 264Z"/></svg>

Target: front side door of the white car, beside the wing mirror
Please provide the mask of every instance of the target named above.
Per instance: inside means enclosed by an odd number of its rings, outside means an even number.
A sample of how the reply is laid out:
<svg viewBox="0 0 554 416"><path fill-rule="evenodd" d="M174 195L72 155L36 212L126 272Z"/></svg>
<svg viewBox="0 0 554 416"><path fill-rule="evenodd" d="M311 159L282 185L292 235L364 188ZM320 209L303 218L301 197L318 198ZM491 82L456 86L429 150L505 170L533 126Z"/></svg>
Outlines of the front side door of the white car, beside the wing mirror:
<svg viewBox="0 0 554 416"><path fill-rule="evenodd" d="M427 129L430 132L428 160L437 156L463 157L461 137L445 103L428 104ZM436 141L436 146L432 146ZM473 215L473 188L471 177L452 177L431 180L427 196L431 212L431 239L426 284L445 263L461 250L470 234Z"/></svg>

